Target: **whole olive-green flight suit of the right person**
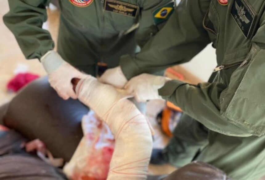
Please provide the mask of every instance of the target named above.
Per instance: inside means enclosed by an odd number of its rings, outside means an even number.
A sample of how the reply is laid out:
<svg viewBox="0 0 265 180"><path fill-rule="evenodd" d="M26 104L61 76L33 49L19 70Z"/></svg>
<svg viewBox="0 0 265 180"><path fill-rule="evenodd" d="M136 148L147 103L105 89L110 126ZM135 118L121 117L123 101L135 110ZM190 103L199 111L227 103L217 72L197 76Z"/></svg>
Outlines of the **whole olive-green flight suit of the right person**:
<svg viewBox="0 0 265 180"><path fill-rule="evenodd" d="M166 148L171 163L183 165L201 150L195 159L234 180L265 175L264 9L264 0L182 0L141 53L121 60L129 79L187 62L210 42L216 48L218 68L210 82L173 80L159 90L208 128L185 115L177 128L186 136L176 131Z"/></svg>

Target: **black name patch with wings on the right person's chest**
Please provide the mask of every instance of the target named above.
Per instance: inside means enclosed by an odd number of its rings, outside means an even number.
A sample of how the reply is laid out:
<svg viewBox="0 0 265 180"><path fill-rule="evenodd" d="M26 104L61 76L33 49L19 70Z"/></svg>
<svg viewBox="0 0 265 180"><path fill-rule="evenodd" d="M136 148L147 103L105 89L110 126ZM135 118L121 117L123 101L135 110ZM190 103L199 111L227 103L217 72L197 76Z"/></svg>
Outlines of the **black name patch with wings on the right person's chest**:
<svg viewBox="0 0 265 180"><path fill-rule="evenodd" d="M244 36L248 38L255 26L256 14L254 11L244 0L234 0L231 15Z"/></svg>

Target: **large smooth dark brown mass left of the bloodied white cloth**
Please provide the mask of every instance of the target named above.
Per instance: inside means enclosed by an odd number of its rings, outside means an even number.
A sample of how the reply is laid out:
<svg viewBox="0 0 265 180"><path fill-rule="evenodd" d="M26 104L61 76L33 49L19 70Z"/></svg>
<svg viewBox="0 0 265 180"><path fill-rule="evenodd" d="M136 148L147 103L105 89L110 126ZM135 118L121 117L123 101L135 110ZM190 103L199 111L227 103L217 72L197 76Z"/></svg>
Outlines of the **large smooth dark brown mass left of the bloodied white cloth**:
<svg viewBox="0 0 265 180"><path fill-rule="evenodd" d="M55 158L68 162L83 136L80 122L87 113L88 108L78 100L60 98L44 77L10 102L4 125L30 140L39 138Z"/></svg>

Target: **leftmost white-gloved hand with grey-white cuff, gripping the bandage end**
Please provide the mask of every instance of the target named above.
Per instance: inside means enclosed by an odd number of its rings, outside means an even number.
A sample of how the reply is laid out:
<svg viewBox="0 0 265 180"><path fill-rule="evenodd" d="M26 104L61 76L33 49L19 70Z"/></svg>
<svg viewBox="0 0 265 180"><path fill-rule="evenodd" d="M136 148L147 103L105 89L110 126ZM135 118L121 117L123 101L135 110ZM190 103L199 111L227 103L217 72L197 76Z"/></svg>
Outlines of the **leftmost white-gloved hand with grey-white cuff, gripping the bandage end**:
<svg viewBox="0 0 265 180"><path fill-rule="evenodd" d="M51 86L56 90L59 96L65 100L69 97L76 99L77 95L73 91L71 79L81 79L84 74L65 62L63 58L53 50L47 52L40 61L48 74Z"/></svg>

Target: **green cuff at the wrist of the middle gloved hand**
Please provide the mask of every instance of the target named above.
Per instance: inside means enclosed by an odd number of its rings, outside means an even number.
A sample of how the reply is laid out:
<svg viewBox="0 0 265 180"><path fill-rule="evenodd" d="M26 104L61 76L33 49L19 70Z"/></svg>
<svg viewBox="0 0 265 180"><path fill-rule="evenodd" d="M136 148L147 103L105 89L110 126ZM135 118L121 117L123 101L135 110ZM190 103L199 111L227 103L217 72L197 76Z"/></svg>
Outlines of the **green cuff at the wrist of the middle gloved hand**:
<svg viewBox="0 0 265 180"><path fill-rule="evenodd" d="M133 62L133 57L128 54L120 58L120 68L127 80L141 74L140 68Z"/></svg>

